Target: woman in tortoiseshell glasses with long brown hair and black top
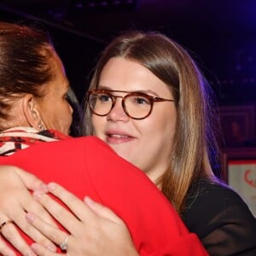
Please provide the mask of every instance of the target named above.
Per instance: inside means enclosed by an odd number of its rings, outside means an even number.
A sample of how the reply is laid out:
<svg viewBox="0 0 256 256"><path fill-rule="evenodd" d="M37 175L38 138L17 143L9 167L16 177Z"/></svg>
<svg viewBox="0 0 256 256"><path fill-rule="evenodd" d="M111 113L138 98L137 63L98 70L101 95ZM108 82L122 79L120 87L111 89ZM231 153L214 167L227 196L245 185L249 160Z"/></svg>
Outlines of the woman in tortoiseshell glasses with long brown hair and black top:
<svg viewBox="0 0 256 256"><path fill-rule="evenodd" d="M139 167L209 254L253 255L255 219L240 196L213 174L218 148L210 100L205 80L182 47L159 33L127 33L113 39L96 65L87 93L86 134ZM68 203L66 193L55 194ZM61 223L71 219L55 210L49 197L38 201ZM51 239L64 237L35 215L29 222ZM69 231L68 247L86 243L76 239L75 229ZM39 245L33 249L55 255Z"/></svg>

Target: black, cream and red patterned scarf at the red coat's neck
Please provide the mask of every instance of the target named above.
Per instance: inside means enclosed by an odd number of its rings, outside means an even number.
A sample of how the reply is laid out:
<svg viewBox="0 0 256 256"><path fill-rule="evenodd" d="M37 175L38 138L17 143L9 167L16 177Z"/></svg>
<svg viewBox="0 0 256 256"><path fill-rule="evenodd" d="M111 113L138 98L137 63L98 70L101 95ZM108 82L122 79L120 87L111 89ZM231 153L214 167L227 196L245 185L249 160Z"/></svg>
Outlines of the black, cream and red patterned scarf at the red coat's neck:
<svg viewBox="0 0 256 256"><path fill-rule="evenodd" d="M0 131L0 155L7 156L31 145L55 142L66 138L69 137L55 130L37 131L32 127L11 128Z"/></svg>

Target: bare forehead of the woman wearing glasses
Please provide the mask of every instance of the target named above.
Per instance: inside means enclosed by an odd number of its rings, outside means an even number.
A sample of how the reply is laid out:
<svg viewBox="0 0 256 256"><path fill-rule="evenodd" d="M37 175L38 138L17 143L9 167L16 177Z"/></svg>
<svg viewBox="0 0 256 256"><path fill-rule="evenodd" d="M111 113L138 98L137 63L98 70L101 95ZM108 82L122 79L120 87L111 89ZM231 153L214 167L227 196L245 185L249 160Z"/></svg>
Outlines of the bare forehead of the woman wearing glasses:
<svg viewBox="0 0 256 256"><path fill-rule="evenodd" d="M152 90L171 95L170 88L148 68L123 57L111 58L103 67L99 87L110 90Z"/></svg>

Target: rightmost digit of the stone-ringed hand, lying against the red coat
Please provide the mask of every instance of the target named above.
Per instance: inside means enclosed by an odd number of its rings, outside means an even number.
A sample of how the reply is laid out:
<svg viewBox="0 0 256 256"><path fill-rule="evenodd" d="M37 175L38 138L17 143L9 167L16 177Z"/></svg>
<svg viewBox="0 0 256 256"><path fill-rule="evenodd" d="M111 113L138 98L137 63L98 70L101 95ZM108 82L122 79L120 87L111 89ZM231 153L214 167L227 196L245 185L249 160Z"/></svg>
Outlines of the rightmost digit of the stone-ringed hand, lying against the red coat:
<svg viewBox="0 0 256 256"><path fill-rule="evenodd" d="M119 218L112 210L110 210L108 207L102 206L96 201L93 201L89 196L85 196L84 202L98 216L102 218L107 218L108 220L111 220L116 224L124 223L123 220Z"/></svg>

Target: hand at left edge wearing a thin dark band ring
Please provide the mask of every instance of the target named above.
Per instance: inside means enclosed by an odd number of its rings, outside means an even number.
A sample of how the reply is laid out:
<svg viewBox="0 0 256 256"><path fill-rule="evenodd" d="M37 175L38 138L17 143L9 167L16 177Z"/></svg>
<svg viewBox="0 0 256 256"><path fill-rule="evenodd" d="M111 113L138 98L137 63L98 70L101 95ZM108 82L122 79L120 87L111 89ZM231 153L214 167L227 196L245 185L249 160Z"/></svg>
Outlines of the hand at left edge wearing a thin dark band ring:
<svg viewBox="0 0 256 256"><path fill-rule="evenodd" d="M19 168L13 166L0 166L0 221L11 219L19 226L20 230L30 236L33 241L42 243L44 246L54 244L43 236L31 224L26 222L25 213L33 210L45 218L49 223L55 224L49 213L38 201L35 201L31 193L26 189L20 176L16 173ZM0 224L1 224L0 222ZM14 224L5 224L1 229L2 236L9 240L14 247L23 255L29 248L26 241L20 236ZM31 251L31 250L30 250Z"/></svg>

